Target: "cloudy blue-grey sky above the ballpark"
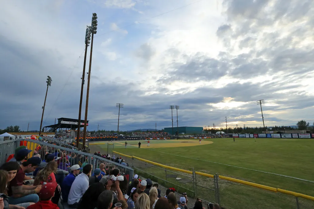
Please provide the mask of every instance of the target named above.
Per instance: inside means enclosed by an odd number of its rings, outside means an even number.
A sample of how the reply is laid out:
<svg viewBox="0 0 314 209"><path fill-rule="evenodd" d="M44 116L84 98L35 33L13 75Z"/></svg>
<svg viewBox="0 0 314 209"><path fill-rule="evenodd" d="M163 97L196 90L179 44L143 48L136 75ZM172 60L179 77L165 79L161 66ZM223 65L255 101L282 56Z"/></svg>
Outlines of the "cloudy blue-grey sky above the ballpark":
<svg viewBox="0 0 314 209"><path fill-rule="evenodd" d="M39 129L47 76L43 125L78 118L93 12L89 130L116 130L119 102L121 130L171 127L169 105L179 126L262 126L259 99L267 126L313 123L312 0L15 0L0 8L0 128Z"/></svg>

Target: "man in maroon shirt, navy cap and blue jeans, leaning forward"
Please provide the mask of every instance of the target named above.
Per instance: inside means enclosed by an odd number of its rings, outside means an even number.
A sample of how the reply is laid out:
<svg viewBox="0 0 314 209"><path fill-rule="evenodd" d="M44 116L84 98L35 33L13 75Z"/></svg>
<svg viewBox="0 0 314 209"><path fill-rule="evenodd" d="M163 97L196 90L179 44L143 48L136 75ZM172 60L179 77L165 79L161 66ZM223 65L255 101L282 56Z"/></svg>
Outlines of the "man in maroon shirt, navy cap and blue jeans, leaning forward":
<svg viewBox="0 0 314 209"><path fill-rule="evenodd" d="M33 172L38 165L40 165L40 163L41 159L39 157L31 157L20 165L17 174L8 186L10 205L16 205L24 202L38 202L39 197L36 193L39 193L41 185L23 185L23 181L25 173Z"/></svg>

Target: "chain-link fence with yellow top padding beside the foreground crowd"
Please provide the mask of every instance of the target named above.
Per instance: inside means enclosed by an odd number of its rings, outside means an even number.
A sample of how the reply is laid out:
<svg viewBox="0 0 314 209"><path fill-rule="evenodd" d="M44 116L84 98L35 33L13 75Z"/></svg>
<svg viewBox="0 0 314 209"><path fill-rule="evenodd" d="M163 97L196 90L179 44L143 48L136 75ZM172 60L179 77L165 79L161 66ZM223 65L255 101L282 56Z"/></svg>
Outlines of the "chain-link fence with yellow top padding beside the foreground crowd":
<svg viewBox="0 0 314 209"><path fill-rule="evenodd" d="M223 175L198 172L193 168L192 171L183 170L116 151L113 151L113 153L123 156L122 158L125 158L127 163L132 165L137 173L143 174L152 180L154 179L161 185L174 186L181 193L189 191L189 196L198 197L206 202L216 202L226 208L252 208L252 205L245 205L245 201L242 202L242 199L246 198L252 199L252 202L255 202L253 207L257 206L256 208L314 208L313 196ZM225 189L226 187L233 189ZM237 191L242 191L243 193L237 194ZM268 201L269 198L275 201L270 202ZM259 207L258 205L260 204L263 204L263 207Z"/></svg>

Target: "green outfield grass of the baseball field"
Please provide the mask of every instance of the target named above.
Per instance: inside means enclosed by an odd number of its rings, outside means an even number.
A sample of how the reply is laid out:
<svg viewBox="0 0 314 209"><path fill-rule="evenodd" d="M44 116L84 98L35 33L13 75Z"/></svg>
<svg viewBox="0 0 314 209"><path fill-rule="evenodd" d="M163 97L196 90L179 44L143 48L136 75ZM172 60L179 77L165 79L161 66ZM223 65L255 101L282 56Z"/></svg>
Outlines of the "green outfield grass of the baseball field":
<svg viewBox="0 0 314 209"><path fill-rule="evenodd" d="M228 166L239 166L314 181L313 139L257 138L254 141L252 138L237 138L236 142L233 142L232 138L205 140L214 143L202 146L155 149L146 149L146 146L141 149L129 149L129 147L124 149L124 146L115 145L115 151L181 169L192 170L194 168L196 171L208 174L218 173L314 196L314 183L312 182ZM137 145L138 141L128 143ZM167 142L151 140L151 144L153 143ZM104 150L106 150L105 146ZM265 208L260 205L261 201L259 200L262 200L262 202L266 201L264 205L267 205L266 208L296 208L295 199L291 196L271 193L246 185L221 182L223 183L220 191L221 199L227 206L229 204L233 205L233 208ZM235 201L239 204L234 205ZM314 202L300 198L300 208L314 208Z"/></svg>

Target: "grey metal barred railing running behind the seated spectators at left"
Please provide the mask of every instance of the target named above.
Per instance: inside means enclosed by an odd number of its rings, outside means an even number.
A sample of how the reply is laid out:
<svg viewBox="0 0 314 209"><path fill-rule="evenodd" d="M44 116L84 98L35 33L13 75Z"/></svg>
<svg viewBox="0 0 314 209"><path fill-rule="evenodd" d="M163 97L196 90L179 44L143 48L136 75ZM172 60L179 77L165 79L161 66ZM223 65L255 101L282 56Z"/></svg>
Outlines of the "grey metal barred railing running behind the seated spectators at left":
<svg viewBox="0 0 314 209"><path fill-rule="evenodd" d="M105 159L94 154L89 154L33 139L15 139L0 142L0 164L2 165L5 163L8 156L14 154L15 149L21 145L24 145L28 149L32 150L32 152L29 154L29 157L35 155L41 159L44 159L47 153L55 154L57 156L58 168L62 170L69 171L70 167L76 164L82 167L84 163L92 164L94 170L95 168L98 168L101 163L104 163L108 169L119 169L121 175L125 175L128 181L132 180L133 178L133 168L131 167L121 165L111 161L110 159Z"/></svg>

